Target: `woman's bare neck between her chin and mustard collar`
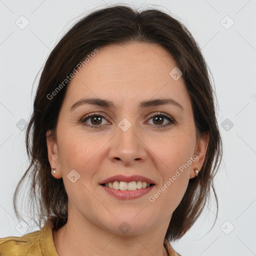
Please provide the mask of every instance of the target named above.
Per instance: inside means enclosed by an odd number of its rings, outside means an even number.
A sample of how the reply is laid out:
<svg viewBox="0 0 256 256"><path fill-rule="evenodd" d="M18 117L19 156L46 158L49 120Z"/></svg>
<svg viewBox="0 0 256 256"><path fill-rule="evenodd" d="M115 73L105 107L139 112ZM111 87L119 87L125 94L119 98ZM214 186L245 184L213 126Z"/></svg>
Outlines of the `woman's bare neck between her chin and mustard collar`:
<svg viewBox="0 0 256 256"><path fill-rule="evenodd" d="M53 230L53 242L58 256L119 256L124 252L130 256L168 256L163 246L164 233L159 233L165 230L164 226L166 223L145 233L119 235L95 226L84 218L78 221L68 216L65 225Z"/></svg>

